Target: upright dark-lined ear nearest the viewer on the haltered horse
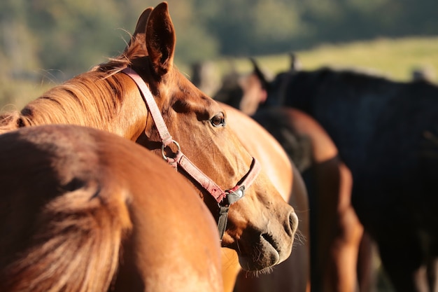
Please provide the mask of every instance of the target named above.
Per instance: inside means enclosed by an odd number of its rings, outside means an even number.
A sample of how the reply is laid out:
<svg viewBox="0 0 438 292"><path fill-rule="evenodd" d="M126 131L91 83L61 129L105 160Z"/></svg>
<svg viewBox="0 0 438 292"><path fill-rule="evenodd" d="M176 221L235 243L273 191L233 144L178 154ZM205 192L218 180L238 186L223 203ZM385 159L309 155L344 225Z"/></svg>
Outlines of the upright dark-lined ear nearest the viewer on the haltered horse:
<svg viewBox="0 0 438 292"><path fill-rule="evenodd" d="M166 2L158 4L150 13L146 27L146 48L156 74L162 76L172 67L175 50L174 24Z"/></svg>

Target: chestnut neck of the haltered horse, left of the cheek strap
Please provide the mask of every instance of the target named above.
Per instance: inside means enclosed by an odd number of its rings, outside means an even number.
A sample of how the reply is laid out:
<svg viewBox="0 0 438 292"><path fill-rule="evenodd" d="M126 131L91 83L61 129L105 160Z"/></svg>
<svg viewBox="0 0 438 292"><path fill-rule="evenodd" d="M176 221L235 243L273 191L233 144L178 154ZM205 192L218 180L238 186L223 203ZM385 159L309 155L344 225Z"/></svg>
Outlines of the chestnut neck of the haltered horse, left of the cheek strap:
<svg viewBox="0 0 438 292"><path fill-rule="evenodd" d="M136 88L126 88L123 76L92 71L66 81L27 104L19 126L83 125L136 139L144 123L135 113L140 114L139 106L146 111L146 106Z"/></svg>

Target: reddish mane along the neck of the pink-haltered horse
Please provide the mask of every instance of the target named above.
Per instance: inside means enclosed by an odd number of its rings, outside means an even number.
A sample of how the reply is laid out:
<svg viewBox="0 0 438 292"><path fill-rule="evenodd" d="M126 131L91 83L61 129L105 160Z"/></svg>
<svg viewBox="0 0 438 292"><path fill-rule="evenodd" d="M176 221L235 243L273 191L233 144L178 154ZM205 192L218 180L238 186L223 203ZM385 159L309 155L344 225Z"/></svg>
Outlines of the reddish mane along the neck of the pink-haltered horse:
<svg viewBox="0 0 438 292"><path fill-rule="evenodd" d="M133 57L143 57L139 46L131 41L118 57L55 86L21 111L3 113L0 115L0 134L19 127L53 123L108 130L111 119L118 116L125 96L123 84L115 74L128 67Z"/></svg>

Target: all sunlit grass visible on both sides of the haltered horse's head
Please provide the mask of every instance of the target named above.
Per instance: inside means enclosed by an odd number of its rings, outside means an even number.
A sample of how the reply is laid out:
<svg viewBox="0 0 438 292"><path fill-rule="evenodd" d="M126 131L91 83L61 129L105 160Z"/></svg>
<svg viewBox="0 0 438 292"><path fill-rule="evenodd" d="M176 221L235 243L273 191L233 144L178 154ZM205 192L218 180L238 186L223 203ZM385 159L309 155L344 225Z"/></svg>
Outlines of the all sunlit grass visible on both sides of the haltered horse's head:
<svg viewBox="0 0 438 292"><path fill-rule="evenodd" d="M281 55L255 56L262 69L272 74L288 69L289 52ZM176 52L178 54L178 52ZM364 69L376 74L393 78L397 81L409 81L411 71L424 68L435 74L438 83L438 36L413 37L405 39L376 39L374 41L358 41L340 45L322 45L312 50L295 52L302 69L316 69L322 66L336 68ZM213 61L218 68L218 75L231 70L230 61L241 73L251 71L247 58L229 58ZM178 64L181 71L190 76L186 64ZM45 79L41 83L8 80L0 76L0 112L8 109L20 109L31 99L35 99L56 83ZM211 92L207 92L211 94Z"/></svg>

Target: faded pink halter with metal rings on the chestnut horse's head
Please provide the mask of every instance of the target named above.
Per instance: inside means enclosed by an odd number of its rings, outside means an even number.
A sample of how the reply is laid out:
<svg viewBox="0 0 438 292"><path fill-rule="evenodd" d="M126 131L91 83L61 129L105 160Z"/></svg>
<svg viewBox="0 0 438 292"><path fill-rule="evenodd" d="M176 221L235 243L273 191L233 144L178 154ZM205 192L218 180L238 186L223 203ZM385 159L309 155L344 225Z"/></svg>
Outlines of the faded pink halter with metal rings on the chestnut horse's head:
<svg viewBox="0 0 438 292"><path fill-rule="evenodd" d="M139 76L133 69L127 67L122 70L122 73L127 74L132 80L136 83L139 88L141 95L148 106L150 115L152 116L155 126L157 127L158 133L160 134L160 139L162 141L162 156L164 160L166 160L169 165L174 167L177 166L184 169L184 171L195 179L199 185L204 188L210 195L212 195L216 202L218 202L219 207L219 219L218 219L218 229L220 239L222 240L222 236L224 235L225 228L227 227L227 218L228 218L228 210L229 206L234 202L240 200L245 195L245 189L248 188L257 178L257 175L260 173L260 163L253 158L253 162L251 163L249 171L243 176L243 178L234 186L234 188L230 188L228 190L222 190L213 180L206 176L196 165L191 162L187 156L185 156L181 152L181 148L178 142L172 139L171 134L169 134L169 130L167 130L166 123L164 123L164 119L162 118L160 109L158 109L157 103L150 92L148 85L143 81L143 78ZM177 147L175 158L169 158L164 153L164 148L169 146L170 144L175 144Z"/></svg>

